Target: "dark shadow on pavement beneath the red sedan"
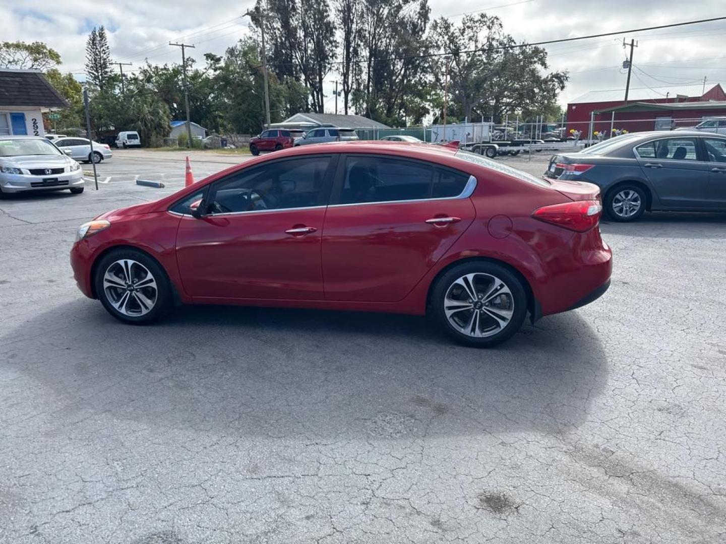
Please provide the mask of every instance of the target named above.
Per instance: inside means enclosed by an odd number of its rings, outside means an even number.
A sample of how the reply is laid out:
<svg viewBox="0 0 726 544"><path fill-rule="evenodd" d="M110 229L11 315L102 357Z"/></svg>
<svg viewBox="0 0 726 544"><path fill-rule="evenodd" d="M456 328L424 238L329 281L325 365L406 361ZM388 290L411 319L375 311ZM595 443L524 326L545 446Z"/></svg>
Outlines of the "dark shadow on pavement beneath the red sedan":
<svg viewBox="0 0 726 544"><path fill-rule="evenodd" d="M129 326L79 299L1 343L56 426L110 417L227 437L561 434L587 419L608 377L600 339L578 311L477 350L422 317L189 307Z"/></svg>

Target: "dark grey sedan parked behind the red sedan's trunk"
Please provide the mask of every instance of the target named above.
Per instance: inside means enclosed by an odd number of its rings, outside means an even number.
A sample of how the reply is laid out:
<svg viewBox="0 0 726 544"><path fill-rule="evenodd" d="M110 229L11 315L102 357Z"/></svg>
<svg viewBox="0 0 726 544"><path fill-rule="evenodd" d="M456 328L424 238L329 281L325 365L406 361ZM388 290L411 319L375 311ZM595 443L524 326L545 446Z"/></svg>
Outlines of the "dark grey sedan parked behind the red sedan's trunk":
<svg viewBox="0 0 726 544"><path fill-rule="evenodd" d="M701 131L624 134L552 156L544 177L600 187L614 221L646 210L726 211L726 136Z"/></svg>

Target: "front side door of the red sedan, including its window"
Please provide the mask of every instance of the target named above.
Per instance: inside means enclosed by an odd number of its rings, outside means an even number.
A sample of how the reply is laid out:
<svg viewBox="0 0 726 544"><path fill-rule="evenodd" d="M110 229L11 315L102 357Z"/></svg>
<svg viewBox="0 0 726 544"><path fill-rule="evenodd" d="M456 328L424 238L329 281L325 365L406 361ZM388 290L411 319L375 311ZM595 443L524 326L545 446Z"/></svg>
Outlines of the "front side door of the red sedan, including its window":
<svg viewBox="0 0 726 544"><path fill-rule="evenodd" d="M322 300L320 244L336 160L274 160L212 184L205 216L179 222L184 291L197 302Z"/></svg>

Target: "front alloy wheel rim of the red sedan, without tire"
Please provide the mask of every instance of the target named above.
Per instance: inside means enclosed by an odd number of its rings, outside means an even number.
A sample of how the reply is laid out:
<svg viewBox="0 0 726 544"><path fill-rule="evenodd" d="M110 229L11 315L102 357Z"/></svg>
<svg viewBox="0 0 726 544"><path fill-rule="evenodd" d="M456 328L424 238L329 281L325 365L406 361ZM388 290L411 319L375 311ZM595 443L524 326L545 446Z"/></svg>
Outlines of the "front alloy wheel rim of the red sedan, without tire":
<svg viewBox="0 0 726 544"><path fill-rule="evenodd" d="M103 290L113 308L130 317L146 315L158 299L154 276L148 268L132 259L117 260L106 268Z"/></svg>

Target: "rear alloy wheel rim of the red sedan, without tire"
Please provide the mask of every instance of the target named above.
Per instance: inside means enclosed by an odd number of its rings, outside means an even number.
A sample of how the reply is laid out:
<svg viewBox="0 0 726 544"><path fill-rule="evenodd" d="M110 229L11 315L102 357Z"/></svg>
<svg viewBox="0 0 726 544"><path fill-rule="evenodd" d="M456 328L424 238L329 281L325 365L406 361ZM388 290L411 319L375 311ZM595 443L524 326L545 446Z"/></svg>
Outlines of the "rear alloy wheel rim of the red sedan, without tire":
<svg viewBox="0 0 726 544"><path fill-rule="evenodd" d="M472 338L486 338L505 329L514 315L514 296L507 284L488 273L470 273L455 280L444 296L449 324Z"/></svg>

